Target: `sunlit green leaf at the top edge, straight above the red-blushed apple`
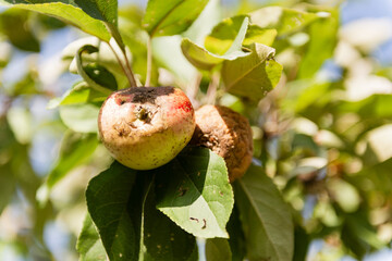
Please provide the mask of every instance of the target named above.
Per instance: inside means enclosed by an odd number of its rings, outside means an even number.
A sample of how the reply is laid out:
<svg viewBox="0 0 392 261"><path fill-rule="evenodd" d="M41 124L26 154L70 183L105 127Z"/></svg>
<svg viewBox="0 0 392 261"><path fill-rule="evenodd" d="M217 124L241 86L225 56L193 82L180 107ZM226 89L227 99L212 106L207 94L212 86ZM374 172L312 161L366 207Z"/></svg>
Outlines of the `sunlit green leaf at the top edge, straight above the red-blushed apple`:
<svg viewBox="0 0 392 261"><path fill-rule="evenodd" d="M143 26L154 36L177 35L201 13L208 0L149 0Z"/></svg>

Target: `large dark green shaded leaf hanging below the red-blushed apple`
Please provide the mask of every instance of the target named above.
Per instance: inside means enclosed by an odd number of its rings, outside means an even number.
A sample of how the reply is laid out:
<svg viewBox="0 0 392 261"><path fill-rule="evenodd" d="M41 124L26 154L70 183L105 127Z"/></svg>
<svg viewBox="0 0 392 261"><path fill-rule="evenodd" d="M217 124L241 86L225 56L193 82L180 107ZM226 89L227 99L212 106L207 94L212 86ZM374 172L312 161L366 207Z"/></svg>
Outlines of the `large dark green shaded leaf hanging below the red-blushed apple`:
<svg viewBox="0 0 392 261"><path fill-rule="evenodd" d="M152 172L114 162L94 177L87 208L110 260L197 260L195 238L155 208Z"/></svg>

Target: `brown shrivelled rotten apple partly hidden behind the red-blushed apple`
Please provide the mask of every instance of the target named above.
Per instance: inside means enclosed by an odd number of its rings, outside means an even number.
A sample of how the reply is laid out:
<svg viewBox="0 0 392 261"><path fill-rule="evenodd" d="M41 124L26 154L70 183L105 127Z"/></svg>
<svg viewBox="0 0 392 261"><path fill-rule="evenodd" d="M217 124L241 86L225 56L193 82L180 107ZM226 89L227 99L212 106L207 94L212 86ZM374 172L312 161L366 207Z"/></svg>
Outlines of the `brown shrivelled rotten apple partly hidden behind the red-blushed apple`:
<svg viewBox="0 0 392 261"><path fill-rule="evenodd" d="M249 122L221 105L204 105L196 111L192 144L207 147L225 161L230 182L244 175L252 162L253 138Z"/></svg>

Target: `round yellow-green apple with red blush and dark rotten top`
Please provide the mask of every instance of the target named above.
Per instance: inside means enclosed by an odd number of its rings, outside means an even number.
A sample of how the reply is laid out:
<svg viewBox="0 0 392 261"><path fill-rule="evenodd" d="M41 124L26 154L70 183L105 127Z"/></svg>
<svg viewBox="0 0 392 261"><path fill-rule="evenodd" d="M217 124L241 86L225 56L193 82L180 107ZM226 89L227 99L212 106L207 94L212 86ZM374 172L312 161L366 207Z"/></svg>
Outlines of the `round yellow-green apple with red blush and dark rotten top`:
<svg viewBox="0 0 392 261"><path fill-rule="evenodd" d="M161 166L180 153L195 130L195 112L174 87L132 87L103 102L98 129L113 158L134 170Z"/></svg>

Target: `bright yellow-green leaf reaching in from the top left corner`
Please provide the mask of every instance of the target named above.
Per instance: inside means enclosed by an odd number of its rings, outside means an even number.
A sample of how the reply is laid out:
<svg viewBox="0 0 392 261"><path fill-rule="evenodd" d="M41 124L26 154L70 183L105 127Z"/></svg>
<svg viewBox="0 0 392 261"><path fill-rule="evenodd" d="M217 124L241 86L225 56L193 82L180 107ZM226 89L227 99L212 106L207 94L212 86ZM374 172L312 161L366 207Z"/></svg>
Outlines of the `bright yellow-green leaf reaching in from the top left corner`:
<svg viewBox="0 0 392 261"><path fill-rule="evenodd" d="M83 2L83 1L81 1ZM50 1L50 0L30 0L28 2L24 0L0 0L0 4L2 5L12 5L19 9L25 9L30 11L36 11L42 14L54 16L59 20L62 20L73 26L78 27L79 29L86 32L87 34L94 35L107 42L109 42L111 35L106 27L106 23L100 20L96 20L94 17L98 17L99 14L96 12L97 9L91 7L98 7L99 9L105 9L109 7L108 12L105 12L108 17L112 17L113 11L109 11L113 9L112 4L105 4L107 1L99 1L100 3L97 5L98 1L89 1L90 3L83 3L83 10L78 7L73 0L63 0L59 1ZM112 3L117 1L111 1ZM103 4L103 5L102 5ZM106 21L112 23L113 21Z"/></svg>

